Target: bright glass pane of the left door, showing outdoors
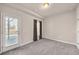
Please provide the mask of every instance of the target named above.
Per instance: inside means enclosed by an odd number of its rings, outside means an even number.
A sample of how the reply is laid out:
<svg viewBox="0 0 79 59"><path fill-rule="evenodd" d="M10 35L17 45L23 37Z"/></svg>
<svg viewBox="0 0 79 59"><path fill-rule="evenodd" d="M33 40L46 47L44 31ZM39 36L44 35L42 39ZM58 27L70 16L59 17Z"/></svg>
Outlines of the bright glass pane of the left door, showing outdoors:
<svg viewBox="0 0 79 59"><path fill-rule="evenodd" d="M11 46L18 43L18 19L5 18L5 46Z"/></svg>

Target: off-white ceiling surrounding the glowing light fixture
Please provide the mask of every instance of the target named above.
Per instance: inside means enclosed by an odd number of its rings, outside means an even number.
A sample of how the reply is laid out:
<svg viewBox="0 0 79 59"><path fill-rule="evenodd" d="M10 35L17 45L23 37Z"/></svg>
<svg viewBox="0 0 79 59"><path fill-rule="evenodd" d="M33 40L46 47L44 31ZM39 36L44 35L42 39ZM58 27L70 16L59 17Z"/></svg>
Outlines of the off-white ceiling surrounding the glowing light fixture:
<svg viewBox="0 0 79 59"><path fill-rule="evenodd" d="M48 8L43 8L42 3L17 3L16 5L23 6L44 18L58 13L67 12L77 7L77 4L75 3L50 3Z"/></svg>

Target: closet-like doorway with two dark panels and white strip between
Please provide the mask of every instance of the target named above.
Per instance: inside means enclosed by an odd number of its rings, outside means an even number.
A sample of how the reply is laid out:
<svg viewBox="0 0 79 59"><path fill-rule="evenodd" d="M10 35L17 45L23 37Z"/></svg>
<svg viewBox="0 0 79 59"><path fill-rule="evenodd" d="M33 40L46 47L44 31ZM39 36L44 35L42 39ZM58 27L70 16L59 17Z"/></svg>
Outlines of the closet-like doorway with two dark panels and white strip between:
<svg viewBox="0 0 79 59"><path fill-rule="evenodd" d="M42 21L34 20L33 40L42 39Z"/></svg>

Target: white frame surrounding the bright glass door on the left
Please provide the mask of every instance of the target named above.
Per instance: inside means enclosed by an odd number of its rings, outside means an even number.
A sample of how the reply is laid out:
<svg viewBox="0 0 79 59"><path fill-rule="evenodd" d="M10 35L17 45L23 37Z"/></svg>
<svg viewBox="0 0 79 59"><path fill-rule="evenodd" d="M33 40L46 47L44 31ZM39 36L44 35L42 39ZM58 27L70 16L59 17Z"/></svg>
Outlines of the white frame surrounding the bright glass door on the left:
<svg viewBox="0 0 79 59"><path fill-rule="evenodd" d="M20 47L20 39L21 39L21 18L14 16L14 18L18 19L18 29L19 29L18 30L18 43L11 45L11 46L8 46L8 47L5 47L5 42L4 42L5 41L5 19L4 19L4 17L6 17L6 16L9 16L9 15L6 15L5 12L2 13L2 21L1 21L1 23L2 23L2 26L1 26L1 28L2 28L2 30L1 30L1 32L2 32L2 36L1 36L2 37L2 40L1 40L1 42L2 42L2 53L6 52L8 50Z"/></svg>

